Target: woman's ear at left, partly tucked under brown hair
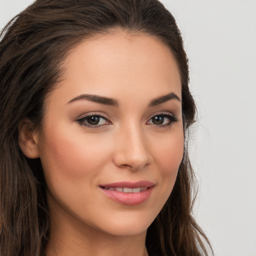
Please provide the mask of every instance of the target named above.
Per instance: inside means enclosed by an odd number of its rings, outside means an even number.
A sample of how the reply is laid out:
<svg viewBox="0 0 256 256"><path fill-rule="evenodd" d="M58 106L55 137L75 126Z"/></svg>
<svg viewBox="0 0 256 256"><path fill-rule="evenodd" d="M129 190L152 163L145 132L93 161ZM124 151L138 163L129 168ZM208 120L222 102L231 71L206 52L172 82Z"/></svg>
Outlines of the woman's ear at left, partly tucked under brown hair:
<svg viewBox="0 0 256 256"><path fill-rule="evenodd" d="M19 122L18 137L19 146L26 157L39 157L38 132L34 123L28 118L24 118Z"/></svg>

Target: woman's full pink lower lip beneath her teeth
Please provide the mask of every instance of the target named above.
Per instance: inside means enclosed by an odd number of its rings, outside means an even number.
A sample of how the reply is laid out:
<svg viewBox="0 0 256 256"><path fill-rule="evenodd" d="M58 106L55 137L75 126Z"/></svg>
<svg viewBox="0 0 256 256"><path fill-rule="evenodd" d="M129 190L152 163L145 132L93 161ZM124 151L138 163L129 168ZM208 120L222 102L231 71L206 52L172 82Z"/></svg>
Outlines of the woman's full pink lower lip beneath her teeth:
<svg viewBox="0 0 256 256"><path fill-rule="evenodd" d="M144 202L146 199L149 198L153 190L153 186L150 186L146 190L137 193L125 193L115 190L104 189L102 187L100 187L100 189L108 198L112 199L115 202L126 205L136 205Z"/></svg>

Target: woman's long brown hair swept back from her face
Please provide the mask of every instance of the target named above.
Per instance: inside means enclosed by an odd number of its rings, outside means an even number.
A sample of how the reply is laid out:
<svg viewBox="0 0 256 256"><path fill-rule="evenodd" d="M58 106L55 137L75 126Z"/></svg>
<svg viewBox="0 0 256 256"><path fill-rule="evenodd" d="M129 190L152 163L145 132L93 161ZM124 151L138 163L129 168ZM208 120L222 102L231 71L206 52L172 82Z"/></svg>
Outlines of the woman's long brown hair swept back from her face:
<svg viewBox="0 0 256 256"><path fill-rule="evenodd" d="M0 255L40 256L49 214L40 159L24 156L18 123L40 125L46 94L61 79L61 63L84 38L121 28L146 33L174 54L182 83L184 155L173 190L149 226L150 256L207 254L209 241L191 215L193 171L187 152L195 104L187 57L171 13L157 0L36 0L2 30L0 40ZM206 244L206 245L205 245Z"/></svg>

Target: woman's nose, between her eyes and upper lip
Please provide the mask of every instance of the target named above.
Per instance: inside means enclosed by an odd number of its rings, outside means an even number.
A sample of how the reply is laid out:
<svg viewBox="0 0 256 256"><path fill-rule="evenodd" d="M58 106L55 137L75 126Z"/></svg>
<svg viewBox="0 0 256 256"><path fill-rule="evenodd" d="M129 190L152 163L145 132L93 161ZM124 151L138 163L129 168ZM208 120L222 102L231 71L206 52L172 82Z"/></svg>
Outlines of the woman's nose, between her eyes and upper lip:
<svg viewBox="0 0 256 256"><path fill-rule="evenodd" d="M139 170L152 161L145 134L139 127L120 129L115 138L114 164L120 168Z"/></svg>

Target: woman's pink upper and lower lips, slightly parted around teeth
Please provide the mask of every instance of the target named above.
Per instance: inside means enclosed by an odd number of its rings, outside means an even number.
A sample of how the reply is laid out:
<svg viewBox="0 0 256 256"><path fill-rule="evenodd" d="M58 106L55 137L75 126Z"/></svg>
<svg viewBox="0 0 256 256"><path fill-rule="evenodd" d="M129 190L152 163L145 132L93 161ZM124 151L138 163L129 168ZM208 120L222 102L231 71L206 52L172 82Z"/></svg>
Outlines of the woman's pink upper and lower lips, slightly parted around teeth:
<svg viewBox="0 0 256 256"><path fill-rule="evenodd" d="M116 191L116 190L109 190L105 189L104 187L127 187L127 188L136 188L136 187L147 187L145 190L140 192L122 192L122 191ZM108 184L100 184L99 186L100 190L110 199L113 201L120 203L120 204L126 204L126 205L137 205L145 200L147 200L154 188L154 183L146 180L141 180L137 182L127 182L127 181L121 181L121 182L114 182L114 183L108 183Z"/></svg>

